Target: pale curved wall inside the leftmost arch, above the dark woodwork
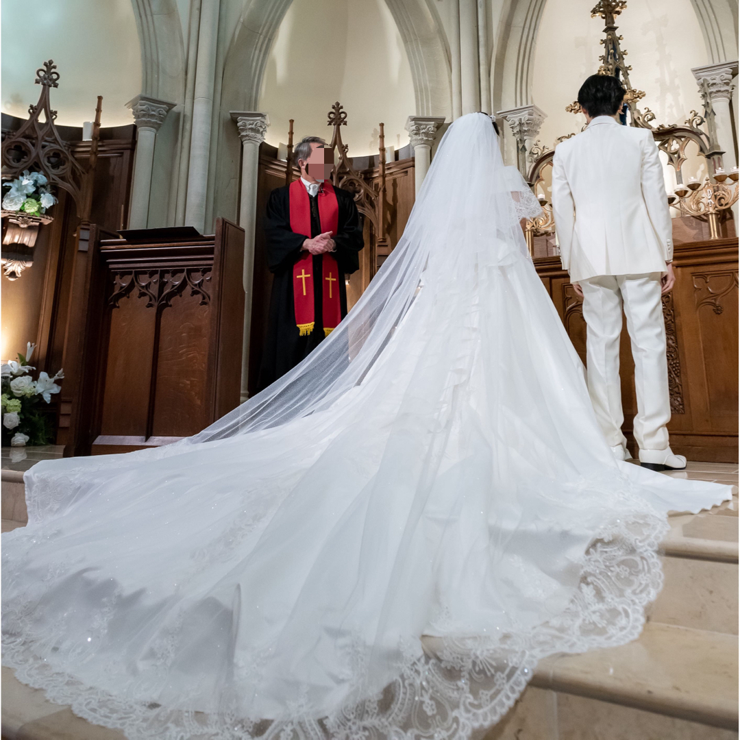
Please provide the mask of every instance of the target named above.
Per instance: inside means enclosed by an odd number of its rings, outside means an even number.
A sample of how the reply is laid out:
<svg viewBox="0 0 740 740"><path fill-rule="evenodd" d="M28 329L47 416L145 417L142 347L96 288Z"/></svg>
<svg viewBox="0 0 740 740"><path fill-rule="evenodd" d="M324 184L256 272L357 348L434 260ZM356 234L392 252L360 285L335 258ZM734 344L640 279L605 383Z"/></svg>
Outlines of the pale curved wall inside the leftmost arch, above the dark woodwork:
<svg viewBox="0 0 740 740"><path fill-rule="evenodd" d="M124 106L141 92L141 52L131 0L2 0L3 112L28 117L48 59L61 75L51 92L57 124L92 121L97 95L103 126L132 123Z"/></svg>

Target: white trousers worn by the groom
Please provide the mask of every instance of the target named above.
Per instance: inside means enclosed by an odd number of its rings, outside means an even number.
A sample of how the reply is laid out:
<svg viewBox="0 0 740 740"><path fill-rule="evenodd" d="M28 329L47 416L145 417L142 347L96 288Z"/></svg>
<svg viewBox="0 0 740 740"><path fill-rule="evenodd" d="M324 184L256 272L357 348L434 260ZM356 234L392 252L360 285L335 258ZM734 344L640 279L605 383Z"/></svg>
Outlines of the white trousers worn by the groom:
<svg viewBox="0 0 740 740"><path fill-rule="evenodd" d="M641 449L668 446L670 421L665 322L661 274L598 275L580 280L583 317L588 328L588 392L608 443L625 444L622 434L622 388L619 381L619 335L622 308L635 360L637 416L633 431Z"/></svg>

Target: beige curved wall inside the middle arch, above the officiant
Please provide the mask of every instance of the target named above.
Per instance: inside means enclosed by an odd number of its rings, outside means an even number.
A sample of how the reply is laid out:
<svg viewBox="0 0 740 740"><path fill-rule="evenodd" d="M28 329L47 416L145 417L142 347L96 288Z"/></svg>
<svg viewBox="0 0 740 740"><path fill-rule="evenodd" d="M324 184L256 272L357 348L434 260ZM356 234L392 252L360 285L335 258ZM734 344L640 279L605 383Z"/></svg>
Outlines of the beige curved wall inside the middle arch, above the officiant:
<svg viewBox="0 0 740 740"><path fill-rule="evenodd" d="M326 113L337 100L349 115L350 155L377 152L380 121L387 145L408 144L411 68L385 0L294 0L280 24L258 106L270 117L266 141L285 142L289 118L296 140L329 136Z"/></svg>

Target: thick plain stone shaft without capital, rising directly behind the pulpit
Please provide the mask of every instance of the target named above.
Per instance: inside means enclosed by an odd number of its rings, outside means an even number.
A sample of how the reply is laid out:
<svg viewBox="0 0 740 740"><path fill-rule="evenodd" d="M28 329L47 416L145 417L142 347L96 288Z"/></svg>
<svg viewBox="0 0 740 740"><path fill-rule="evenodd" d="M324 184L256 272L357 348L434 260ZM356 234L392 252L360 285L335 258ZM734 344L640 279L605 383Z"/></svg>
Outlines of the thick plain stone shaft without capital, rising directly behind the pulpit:
<svg viewBox="0 0 740 740"><path fill-rule="evenodd" d="M219 7L220 0L202 0L201 25L198 30L198 58L195 62L185 225L195 226L201 234L206 228L206 190L208 188L208 158L211 150Z"/></svg>

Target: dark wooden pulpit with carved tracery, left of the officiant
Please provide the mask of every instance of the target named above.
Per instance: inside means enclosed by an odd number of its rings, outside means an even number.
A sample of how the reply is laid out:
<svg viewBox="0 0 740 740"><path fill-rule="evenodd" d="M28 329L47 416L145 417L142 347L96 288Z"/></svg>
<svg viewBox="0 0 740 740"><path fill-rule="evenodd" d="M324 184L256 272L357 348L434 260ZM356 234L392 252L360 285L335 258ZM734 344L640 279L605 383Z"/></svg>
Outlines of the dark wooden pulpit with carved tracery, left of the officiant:
<svg viewBox="0 0 740 740"><path fill-rule="evenodd" d="M212 236L120 233L81 230L64 352L66 455L170 443L239 403L243 229L218 218Z"/></svg>

